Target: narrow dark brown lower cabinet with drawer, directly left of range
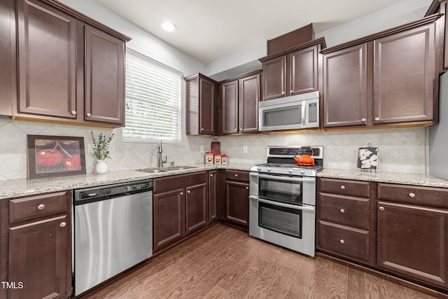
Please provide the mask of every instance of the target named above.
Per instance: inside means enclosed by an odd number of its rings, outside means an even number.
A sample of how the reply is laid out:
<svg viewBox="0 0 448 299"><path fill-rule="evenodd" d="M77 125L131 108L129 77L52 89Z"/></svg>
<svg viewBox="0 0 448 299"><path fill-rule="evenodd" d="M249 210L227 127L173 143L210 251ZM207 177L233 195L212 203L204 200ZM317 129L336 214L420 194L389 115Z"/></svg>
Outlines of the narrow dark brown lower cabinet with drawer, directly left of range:
<svg viewBox="0 0 448 299"><path fill-rule="evenodd" d="M249 226L248 172L228 170L225 174L225 220Z"/></svg>

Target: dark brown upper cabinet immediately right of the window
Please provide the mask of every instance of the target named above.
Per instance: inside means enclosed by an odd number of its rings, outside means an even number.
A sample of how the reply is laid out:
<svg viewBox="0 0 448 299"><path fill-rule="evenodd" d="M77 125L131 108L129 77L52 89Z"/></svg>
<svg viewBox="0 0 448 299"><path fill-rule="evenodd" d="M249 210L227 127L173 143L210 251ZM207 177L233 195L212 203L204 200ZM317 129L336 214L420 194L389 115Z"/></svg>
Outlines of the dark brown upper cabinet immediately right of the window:
<svg viewBox="0 0 448 299"><path fill-rule="evenodd" d="M202 74L188 76L185 81L187 134L216 135L218 83Z"/></svg>

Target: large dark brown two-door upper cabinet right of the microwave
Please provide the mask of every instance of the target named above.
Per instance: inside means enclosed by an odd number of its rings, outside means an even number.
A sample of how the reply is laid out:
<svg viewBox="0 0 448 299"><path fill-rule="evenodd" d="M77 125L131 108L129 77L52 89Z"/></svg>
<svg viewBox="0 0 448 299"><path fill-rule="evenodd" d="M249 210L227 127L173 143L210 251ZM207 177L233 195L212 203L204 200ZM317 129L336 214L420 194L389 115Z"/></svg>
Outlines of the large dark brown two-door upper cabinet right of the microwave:
<svg viewBox="0 0 448 299"><path fill-rule="evenodd" d="M323 50L323 128L437 123L438 18Z"/></svg>

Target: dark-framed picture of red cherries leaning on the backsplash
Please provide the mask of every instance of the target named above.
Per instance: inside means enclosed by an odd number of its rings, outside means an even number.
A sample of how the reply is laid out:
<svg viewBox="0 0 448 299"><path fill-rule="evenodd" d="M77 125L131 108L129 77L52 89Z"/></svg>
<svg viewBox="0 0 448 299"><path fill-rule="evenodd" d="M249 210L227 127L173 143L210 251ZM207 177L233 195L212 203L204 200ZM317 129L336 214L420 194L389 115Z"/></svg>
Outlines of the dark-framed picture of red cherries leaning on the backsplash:
<svg viewBox="0 0 448 299"><path fill-rule="evenodd" d="M27 135L28 179L85 174L84 137Z"/></svg>

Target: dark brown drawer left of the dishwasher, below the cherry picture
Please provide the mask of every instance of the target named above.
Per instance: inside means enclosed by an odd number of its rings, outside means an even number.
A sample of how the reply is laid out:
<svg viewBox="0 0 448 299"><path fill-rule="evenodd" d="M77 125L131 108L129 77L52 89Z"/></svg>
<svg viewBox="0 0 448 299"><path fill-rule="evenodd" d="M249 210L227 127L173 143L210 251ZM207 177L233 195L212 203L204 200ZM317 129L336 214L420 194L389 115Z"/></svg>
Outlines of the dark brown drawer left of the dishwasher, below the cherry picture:
<svg viewBox="0 0 448 299"><path fill-rule="evenodd" d="M9 223L66 212L66 200L66 192L10 200Z"/></svg>

